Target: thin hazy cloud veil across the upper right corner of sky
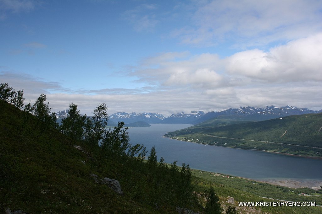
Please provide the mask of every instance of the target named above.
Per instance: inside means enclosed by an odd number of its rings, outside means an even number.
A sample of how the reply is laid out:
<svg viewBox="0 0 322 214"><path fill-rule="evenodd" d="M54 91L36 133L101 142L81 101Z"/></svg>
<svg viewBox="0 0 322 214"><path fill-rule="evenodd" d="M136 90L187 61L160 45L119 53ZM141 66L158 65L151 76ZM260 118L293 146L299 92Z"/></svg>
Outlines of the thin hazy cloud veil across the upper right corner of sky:
<svg viewBox="0 0 322 214"><path fill-rule="evenodd" d="M232 42L233 47L255 47L322 30L319 0L214 0L196 7L191 24L172 33L183 43L196 46Z"/></svg>

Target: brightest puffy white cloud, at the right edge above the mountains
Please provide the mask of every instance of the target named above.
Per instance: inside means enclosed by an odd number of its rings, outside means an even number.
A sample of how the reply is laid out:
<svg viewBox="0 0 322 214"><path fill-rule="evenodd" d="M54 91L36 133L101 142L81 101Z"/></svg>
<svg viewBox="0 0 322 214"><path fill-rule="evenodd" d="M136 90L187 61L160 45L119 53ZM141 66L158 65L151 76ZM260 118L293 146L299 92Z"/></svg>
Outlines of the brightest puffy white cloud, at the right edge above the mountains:
<svg viewBox="0 0 322 214"><path fill-rule="evenodd" d="M227 58L231 75L274 82L322 81L322 33L264 52L259 49Z"/></svg>

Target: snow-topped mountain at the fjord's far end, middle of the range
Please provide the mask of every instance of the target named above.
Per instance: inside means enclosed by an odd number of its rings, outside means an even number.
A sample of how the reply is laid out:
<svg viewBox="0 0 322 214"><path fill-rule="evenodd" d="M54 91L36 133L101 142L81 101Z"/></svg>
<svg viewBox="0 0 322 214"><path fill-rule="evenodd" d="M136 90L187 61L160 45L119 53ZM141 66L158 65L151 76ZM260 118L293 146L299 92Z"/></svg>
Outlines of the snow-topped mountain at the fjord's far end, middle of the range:
<svg viewBox="0 0 322 214"><path fill-rule="evenodd" d="M162 123L192 124L193 121L197 120L202 115L204 115L203 111L191 111L190 114L186 114L185 112L181 111L181 113L172 114L170 117L163 119Z"/></svg>

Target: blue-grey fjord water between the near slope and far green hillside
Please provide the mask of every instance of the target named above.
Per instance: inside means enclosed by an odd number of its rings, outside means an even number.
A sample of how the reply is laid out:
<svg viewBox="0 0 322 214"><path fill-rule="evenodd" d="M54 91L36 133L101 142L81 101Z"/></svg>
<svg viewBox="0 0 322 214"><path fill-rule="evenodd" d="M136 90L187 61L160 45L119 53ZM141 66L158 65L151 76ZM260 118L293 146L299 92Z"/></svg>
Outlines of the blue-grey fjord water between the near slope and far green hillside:
<svg viewBox="0 0 322 214"><path fill-rule="evenodd" d="M150 127L130 128L130 143L143 144L148 151L155 146L158 159L163 156L167 163L177 160L177 165L185 163L193 169L254 180L308 179L322 182L322 160L319 159L210 146L163 137L169 131L189 126L191 125L151 124Z"/></svg>

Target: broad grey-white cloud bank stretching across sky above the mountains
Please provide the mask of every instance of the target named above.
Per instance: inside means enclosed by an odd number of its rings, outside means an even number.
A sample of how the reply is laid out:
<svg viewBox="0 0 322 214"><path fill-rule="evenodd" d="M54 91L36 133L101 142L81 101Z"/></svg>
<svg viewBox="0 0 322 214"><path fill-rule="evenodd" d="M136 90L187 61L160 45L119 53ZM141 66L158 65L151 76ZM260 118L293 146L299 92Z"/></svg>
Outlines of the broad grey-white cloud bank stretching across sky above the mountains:
<svg viewBox="0 0 322 214"><path fill-rule="evenodd" d="M223 110L230 107L293 105L322 108L322 33L292 40L269 51L250 49L220 58L217 54L161 53L143 59L128 75L147 86L135 89L72 91L1 68L1 79L24 88L27 100L47 94L54 111L79 104L90 114L105 102L110 113ZM23 78L22 78L23 77ZM55 91L55 93L51 93ZM57 93L61 92L61 93Z"/></svg>

